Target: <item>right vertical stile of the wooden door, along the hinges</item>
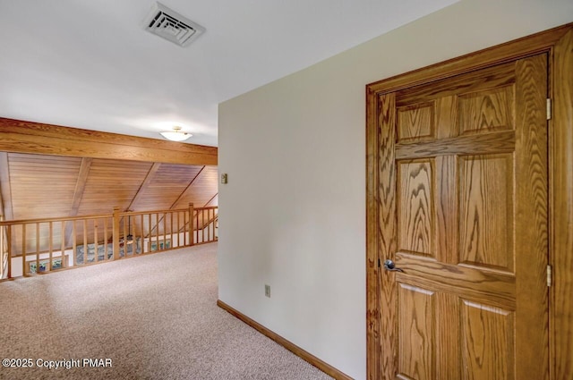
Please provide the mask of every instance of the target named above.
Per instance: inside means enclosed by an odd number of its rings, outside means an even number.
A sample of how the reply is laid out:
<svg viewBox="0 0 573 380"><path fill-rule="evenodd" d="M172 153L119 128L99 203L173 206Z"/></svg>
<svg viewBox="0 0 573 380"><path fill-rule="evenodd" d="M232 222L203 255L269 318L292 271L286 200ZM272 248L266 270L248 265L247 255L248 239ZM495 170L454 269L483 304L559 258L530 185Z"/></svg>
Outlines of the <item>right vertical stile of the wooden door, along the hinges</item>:
<svg viewBox="0 0 573 380"><path fill-rule="evenodd" d="M547 55L516 63L517 378L549 378ZM532 302L531 300L535 300ZM531 327L536 325L535 329ZM533 331L532 331L533 330ZM536 358L538 363L524 365Z"/></svg>

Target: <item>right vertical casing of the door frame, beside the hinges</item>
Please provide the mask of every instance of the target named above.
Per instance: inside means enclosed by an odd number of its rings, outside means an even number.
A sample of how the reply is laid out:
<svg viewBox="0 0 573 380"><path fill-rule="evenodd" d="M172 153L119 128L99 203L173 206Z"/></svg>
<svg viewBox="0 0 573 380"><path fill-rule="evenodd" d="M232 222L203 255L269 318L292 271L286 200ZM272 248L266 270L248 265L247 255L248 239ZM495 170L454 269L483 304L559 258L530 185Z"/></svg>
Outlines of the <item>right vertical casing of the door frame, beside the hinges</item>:
<svg viewBox="0 0 573 380"><path fill-rule="evenodd" d="M551 337L558 380L573 377L573 30L557 43L553 60Z"/></svg>

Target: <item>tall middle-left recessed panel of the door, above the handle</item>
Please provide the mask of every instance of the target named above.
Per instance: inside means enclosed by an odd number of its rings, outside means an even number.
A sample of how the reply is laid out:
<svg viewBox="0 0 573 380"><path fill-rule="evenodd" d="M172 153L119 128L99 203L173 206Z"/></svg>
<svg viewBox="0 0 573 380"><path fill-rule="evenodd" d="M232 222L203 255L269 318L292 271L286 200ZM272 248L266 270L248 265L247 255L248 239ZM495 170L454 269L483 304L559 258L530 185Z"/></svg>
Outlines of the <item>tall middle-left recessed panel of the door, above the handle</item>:
<svg viewBox="0 0 573 380"><path fill-rule="evenodd" d="M431 160L398 162L398 249L435 257Z"/></svg>

